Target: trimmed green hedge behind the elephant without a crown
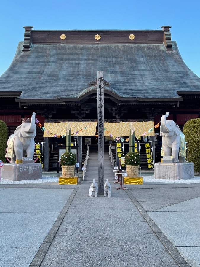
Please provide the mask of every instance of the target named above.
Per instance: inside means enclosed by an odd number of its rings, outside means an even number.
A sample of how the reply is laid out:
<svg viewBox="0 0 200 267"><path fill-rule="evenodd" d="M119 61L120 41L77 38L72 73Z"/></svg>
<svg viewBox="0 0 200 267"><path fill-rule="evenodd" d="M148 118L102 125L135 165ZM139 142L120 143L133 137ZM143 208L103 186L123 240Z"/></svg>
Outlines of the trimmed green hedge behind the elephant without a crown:
<svg viewBox="0 0 200 267"><path fill-rule="evenodd" d="M200 118L188 120L183 126L188 142L188 161L194 163L194 171L200 171Z"/></svg>

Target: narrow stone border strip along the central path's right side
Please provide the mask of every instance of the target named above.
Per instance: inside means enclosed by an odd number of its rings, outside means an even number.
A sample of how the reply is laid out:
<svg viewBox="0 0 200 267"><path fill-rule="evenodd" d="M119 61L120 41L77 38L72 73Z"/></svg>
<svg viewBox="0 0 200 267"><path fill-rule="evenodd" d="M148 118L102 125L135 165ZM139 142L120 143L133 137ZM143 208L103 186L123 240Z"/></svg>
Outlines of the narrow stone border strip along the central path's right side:
<svg viewBox="0 0 200 267"><path fill-rule="evenodd" d="M172 258L175 260L175 262L180 267L191 267L185 259L180 255L180 253L177 251L177 249L172 245L172 243L167 239L167 237L164 235L164 233L160 230L160 228L153 222L151 217L147 214L147 212L143 209L143 207L140 205L140 203L134 198L134 196L131 194L129 190L125 190L133 204L136 206L136 208L139 210L140 214L144 217L145 221L148 223L148 225L151 227L153 232L156 234L158 239L161 241L161 243L164 245L164 247L167 249L169 254L172 256Z"/></svg>

